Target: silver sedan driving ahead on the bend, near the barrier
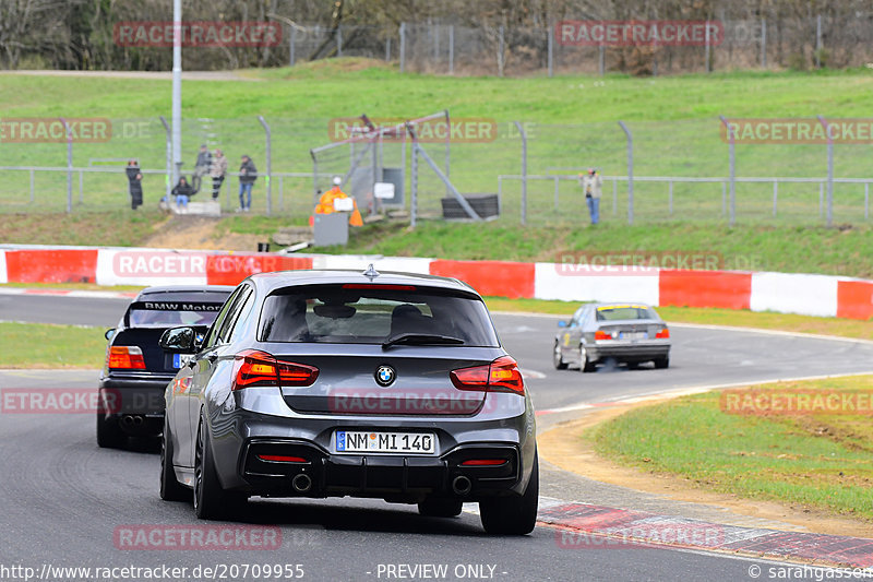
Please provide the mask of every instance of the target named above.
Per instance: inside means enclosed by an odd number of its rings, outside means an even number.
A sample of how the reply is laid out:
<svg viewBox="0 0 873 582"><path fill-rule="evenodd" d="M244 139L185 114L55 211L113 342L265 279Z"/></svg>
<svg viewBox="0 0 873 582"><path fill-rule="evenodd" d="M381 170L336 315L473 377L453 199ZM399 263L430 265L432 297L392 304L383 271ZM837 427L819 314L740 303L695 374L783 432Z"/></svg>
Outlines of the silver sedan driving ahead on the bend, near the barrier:
<svg viewBox="0 0 873 582"><path fill-rule="evenodd" d="M651 306L586 304L558 326L552 357L559 370L575 364L590 372L608 360L629 367L643 361L656 368L670 365L670 330Z"/></svg>

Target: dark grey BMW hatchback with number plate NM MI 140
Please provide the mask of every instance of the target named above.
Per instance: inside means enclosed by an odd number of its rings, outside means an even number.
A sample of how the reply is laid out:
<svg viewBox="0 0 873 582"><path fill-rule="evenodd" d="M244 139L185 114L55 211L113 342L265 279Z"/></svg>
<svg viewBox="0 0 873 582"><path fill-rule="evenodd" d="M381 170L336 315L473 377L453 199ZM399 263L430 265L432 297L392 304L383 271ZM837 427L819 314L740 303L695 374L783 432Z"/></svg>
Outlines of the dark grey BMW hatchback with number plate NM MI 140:
<svg viewBox="0 0 873 582"><path fill-rule="evenodd" d="M208 333L167 330L191 359L167 385L160 497L201 519L250 496L369 497L527 534L539 494L536 426L482 298L430 275L262 273ZM193 495L191 492L193 489Z"/></svg>

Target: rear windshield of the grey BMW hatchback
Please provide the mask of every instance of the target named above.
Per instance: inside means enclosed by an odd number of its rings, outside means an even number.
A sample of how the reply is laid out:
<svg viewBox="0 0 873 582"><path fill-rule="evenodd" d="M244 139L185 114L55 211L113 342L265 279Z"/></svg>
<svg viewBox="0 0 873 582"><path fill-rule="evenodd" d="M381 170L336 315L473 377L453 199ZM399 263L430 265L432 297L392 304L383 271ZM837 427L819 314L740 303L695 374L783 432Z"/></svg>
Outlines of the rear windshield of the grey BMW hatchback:
<svg viewBox="0 0 873 582"><path fill-rule="evenodd" d="M385 344L404 334L442 336L433 343L500 345L480 299L406 285L280 289L264 301L259 336L263 342Z"/></svg>

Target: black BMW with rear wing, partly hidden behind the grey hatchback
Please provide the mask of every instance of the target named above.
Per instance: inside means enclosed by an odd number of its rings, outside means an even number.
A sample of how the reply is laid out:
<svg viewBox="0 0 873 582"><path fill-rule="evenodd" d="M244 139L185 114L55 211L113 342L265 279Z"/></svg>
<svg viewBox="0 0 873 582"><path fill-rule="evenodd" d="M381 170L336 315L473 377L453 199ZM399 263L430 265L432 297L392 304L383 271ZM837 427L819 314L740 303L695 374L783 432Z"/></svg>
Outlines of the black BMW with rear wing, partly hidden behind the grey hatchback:
<svg viewBox="0 0 873 582"><path fill-rule="evenodd" d="M97 444L120 447L129 435L160 435L164 389L188 357L162 349L160 334L182 324L204 334L232 290L217 285L148 287L128 306L118 326L106 332Z"/></svg>

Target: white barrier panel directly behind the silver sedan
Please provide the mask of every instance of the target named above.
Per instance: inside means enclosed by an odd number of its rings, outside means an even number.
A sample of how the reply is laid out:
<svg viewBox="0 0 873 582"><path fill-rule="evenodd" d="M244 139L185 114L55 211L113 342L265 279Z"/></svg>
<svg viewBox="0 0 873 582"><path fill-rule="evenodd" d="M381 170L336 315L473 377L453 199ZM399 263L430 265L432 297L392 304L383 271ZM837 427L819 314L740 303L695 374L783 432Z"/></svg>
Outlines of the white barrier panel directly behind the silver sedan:
<svg viewBox="0 0 873 582"><path fill-rule="evenodd" d="M562 301L642 301L658 305L658 270L636 269L610 274L593 268L567 271L566 265L536 263L534 297ZM601 274L602 273L602 274Z"/></svg>

